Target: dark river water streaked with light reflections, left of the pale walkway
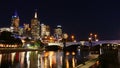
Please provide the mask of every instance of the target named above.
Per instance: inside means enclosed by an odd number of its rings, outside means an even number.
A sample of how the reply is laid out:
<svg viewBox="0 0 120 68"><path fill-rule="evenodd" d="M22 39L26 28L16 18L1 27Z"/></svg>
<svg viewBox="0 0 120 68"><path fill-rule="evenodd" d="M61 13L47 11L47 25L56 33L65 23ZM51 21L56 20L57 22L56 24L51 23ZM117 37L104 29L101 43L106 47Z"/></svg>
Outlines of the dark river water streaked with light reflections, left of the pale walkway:
<svg viewBox="0 0 120 68"><path fill-rule="evenodd" d="M26 51L0 54L0 68L74 68L84 64L89 52Z"/></svg>

